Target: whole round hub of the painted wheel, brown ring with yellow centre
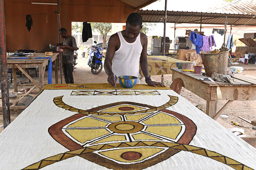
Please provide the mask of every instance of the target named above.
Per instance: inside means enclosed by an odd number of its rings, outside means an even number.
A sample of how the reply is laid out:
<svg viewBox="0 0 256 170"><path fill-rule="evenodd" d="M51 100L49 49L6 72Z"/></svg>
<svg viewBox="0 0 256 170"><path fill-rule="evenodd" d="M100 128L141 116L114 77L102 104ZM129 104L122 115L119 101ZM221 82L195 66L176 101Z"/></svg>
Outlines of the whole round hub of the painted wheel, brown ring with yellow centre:
<svg viewBox="0 0 256 170"><path fill-rule="evenodd" d="M114 122L108 126L110 130L116 133L136 133L142 130L143 127L142 124L132 121Z"/></svg>

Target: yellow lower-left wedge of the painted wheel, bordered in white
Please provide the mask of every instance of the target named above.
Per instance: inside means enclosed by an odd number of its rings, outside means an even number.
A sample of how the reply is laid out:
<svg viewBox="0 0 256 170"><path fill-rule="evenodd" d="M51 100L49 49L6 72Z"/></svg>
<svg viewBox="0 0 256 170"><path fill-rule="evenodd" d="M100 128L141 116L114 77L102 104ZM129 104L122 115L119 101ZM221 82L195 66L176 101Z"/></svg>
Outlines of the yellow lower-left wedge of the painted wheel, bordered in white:
<svg viewBox="0 0 256 170"><path fill-rule="evenodd" d="M81 143L109 133L105 129L67 129L66 132Z"/></svg>

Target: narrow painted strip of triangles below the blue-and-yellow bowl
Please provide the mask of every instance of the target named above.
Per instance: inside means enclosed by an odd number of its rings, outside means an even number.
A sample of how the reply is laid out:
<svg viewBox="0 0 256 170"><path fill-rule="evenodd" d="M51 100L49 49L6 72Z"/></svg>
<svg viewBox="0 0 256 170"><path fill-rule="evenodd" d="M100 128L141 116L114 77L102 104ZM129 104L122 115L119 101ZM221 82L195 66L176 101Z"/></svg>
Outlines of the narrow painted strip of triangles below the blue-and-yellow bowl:
<svg viewBox="0 0 256 170"><path fill-rule="evenodd" d="M71 96L119 96L119 95L160 95L156 90L80 90L72 91Z"/></svg>

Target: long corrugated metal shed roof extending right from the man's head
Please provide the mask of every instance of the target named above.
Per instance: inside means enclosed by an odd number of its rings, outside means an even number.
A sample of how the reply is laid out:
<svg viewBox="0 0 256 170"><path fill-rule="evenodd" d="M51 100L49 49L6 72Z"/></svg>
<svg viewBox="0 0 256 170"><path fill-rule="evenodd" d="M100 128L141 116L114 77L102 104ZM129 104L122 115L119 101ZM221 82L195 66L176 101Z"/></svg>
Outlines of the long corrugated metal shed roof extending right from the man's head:
<svg viewBox="0 0 256 170"><path fill-rule="evenodd" d="M165 11L138 10L142 15L143 22L160 23L163 22ZM200 24L219 24L224 25L226 16L228 25L256 25L256 16L251 14L222 14L206 12L185 12L185 11L167 11L167 23L193 23Z"/></svg>

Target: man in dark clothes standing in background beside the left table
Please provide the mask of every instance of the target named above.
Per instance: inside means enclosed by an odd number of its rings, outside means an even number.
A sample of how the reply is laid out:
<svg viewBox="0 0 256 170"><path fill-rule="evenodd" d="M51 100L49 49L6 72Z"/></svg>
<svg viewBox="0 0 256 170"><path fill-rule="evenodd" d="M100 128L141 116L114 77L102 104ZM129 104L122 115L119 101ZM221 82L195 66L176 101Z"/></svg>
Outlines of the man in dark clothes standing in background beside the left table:
<svg viewBox="0 0 256 170"><path fill-rule="evenodd" d="M68 35L68 32L65 28L60 28L60 36L63 38L62 44L57 44L60 48L63 49L63 73L65 77L66 84L74 83L73 78L73 62L74 62L74 51L77 48L77 42L74 37Z"/></svg>

